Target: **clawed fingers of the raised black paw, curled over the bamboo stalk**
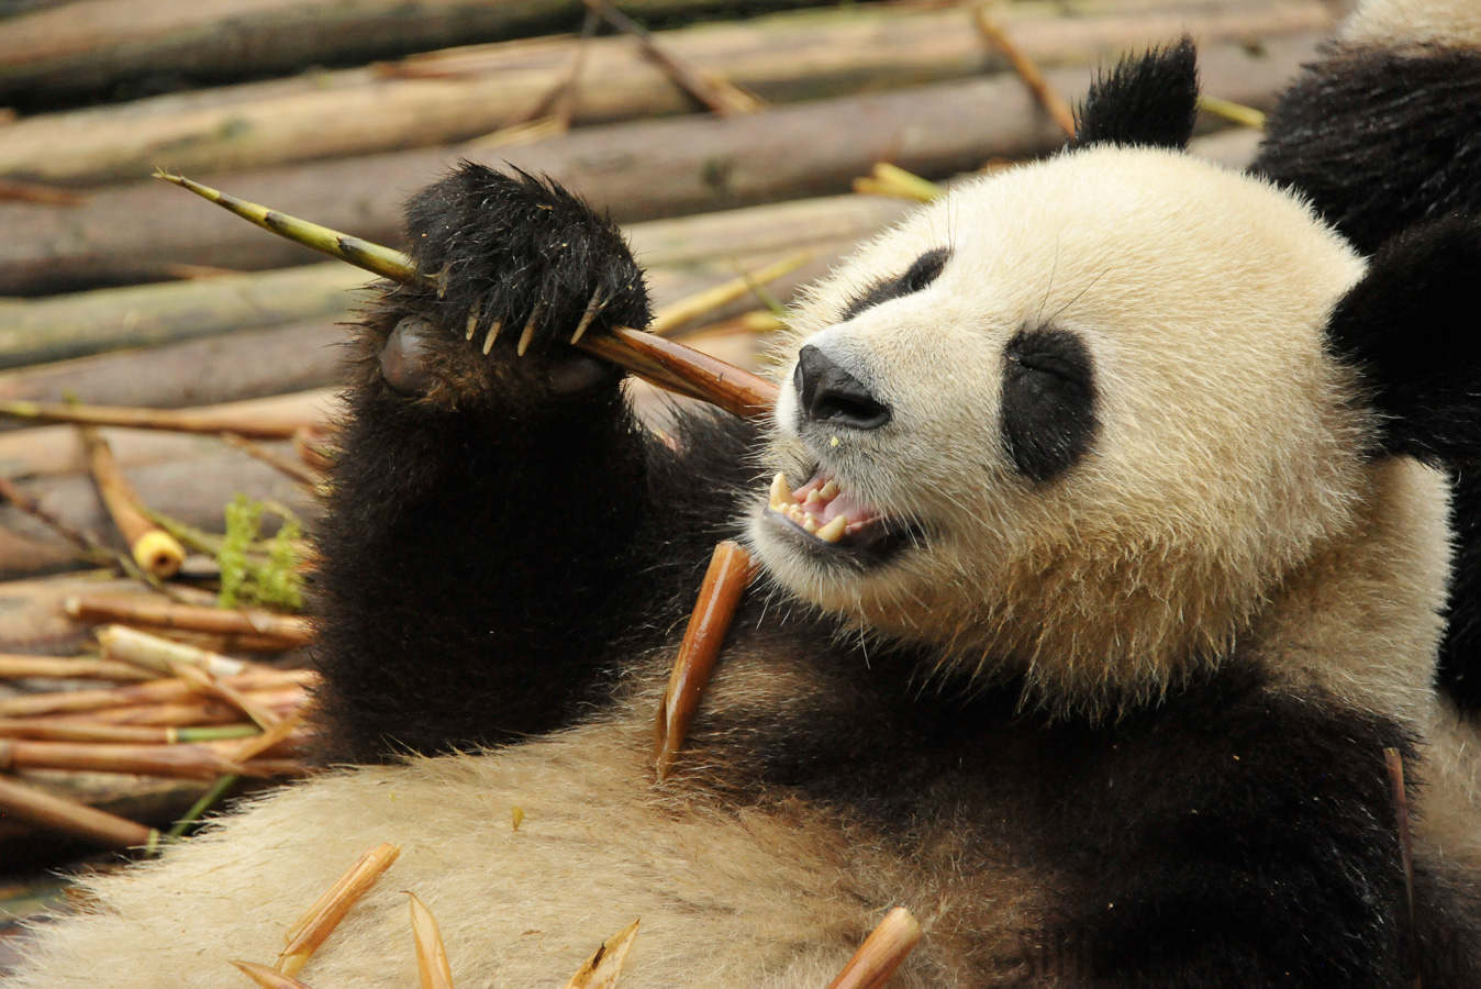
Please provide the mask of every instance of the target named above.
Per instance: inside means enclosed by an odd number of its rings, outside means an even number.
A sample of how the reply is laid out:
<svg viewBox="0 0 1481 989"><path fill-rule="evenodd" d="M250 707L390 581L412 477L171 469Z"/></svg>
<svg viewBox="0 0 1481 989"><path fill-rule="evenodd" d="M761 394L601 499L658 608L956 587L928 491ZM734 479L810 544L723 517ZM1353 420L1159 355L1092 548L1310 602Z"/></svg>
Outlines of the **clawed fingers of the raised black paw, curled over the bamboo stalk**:
<svg viewBox="0 0 1481 989"><path fill-rule="evenodd" d="M438 323L481 354L541 354L594 323L647 324L622 232L554 182L465 163L418 192L406 219L412 256L437 278Z"/></svg>

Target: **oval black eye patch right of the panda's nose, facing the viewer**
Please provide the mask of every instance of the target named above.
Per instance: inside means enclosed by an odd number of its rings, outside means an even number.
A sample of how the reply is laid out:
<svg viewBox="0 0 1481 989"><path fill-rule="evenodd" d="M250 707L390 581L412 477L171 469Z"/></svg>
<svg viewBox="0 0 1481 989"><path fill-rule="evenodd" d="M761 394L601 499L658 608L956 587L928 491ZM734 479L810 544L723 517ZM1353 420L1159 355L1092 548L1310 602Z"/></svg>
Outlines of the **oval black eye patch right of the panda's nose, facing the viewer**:
<svg viewBox="0 0 1481 989"><path fill-rule="evenodd" d="M1094 440L1090 351L1068 330L1020 330L1004 357L1003 444L1020 474L1053 480Z"/></svg>

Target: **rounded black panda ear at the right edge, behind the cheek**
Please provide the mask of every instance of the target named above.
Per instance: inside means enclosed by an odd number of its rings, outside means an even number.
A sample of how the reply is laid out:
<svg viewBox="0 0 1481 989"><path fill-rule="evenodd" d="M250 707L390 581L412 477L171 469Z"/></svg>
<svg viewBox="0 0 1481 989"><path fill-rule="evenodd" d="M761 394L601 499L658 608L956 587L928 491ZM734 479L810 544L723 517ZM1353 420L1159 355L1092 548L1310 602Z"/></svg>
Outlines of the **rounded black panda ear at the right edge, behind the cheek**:
<svg viewBox="0 0 1481 989"><path fill-rule="evenodd" d="M1431 463L1481 457L1481 219L1408 228L1373 256L1327 333L1383 416L1383 450Z"/></svg>

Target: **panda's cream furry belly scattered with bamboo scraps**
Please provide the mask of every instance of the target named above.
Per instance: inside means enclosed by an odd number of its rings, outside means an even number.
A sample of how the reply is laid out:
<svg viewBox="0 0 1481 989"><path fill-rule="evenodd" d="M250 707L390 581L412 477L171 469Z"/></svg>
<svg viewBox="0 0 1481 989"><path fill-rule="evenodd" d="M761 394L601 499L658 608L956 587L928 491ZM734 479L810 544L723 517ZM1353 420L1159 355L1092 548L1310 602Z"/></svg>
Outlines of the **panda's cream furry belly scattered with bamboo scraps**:
<svg viewBox="0 0 1481 989"><path fill-rule="evenodd" d="M560 985L641 918L625 989L816 988L897 903L930 937L893 985L980 985L1026 964L1031 876L988 868L980 847L902 856L795 798L720 807L655 789L646 728L624 718L289 788L96 881L93 913L50 931L44 980L21 985L240 986L228 962L273 962L286 927L378 842L400 859L314 955L310 985L416 985L404 891L437 915L459 986Z"/></svg>

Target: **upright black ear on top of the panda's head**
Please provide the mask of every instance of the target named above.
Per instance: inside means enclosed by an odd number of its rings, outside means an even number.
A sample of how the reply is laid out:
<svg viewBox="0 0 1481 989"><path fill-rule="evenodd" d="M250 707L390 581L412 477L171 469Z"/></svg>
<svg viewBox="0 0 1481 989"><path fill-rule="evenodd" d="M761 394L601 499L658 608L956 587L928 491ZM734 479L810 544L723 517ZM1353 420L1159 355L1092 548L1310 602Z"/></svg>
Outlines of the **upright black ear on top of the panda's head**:
<svg viewBox="0 0 1481 989"><path fill-rule="evenodd" d="M1198 114L1198 50L1173 46L1126 58L1096 77L1080 108L1075 144L1137 144L1183 150Z"/></svg>

